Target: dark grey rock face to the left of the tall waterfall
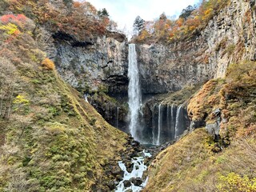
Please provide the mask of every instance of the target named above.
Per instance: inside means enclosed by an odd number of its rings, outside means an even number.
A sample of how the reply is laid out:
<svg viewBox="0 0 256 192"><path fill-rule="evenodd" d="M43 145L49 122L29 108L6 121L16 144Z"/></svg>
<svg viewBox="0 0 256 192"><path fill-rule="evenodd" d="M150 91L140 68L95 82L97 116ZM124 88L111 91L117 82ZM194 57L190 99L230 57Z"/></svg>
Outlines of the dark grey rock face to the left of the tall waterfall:
<svg viewBox="0 0 256 192"><path fill-rule="evenodd" d="M61 32L52 38L50 57L71 86L86 91L108 89L113 94L126 93L128 50L123 34L109 32L87 42Z"/></svg>

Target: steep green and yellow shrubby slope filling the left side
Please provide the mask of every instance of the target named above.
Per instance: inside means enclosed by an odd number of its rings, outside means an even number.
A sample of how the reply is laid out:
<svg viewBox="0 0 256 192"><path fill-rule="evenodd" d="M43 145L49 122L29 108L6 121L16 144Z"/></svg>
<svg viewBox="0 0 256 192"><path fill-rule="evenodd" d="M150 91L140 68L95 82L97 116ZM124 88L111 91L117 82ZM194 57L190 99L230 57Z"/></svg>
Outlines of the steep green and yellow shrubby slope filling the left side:
<svg viewBox="0 0 256 192"><path fill-rule="evenodd" d="M22 14L0 21L0 190L108 190L103 168L126 134L59 78L40 27Z"/></svg>

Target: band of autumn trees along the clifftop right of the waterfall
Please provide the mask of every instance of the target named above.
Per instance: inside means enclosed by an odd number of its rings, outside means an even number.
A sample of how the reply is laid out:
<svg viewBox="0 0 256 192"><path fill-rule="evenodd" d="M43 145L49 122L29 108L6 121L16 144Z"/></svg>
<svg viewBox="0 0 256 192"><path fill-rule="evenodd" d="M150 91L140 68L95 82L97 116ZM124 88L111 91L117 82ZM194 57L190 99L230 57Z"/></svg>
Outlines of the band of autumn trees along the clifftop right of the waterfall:
<svg viewBox="0 0 256 192"><path fill-rule="evenodd" d="M210 19L229 2L230 0L202 1L199 6L186 7L178 19L167 18L163 13L154 22L143 22L143 27L140 27L138 33L135 33L136 36L132 41L149 44L154 42L170 43L188 38L202 30Z"/></svg>

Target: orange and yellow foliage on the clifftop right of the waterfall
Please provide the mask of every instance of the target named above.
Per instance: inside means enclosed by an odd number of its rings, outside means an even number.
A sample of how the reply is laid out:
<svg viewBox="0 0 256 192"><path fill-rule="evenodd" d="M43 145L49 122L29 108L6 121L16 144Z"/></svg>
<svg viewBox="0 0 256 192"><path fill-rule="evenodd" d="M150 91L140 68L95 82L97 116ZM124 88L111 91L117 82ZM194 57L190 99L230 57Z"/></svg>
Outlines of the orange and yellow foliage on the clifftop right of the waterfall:
<svg viewBox="0 0 256 192"><path fill-rule="evenodd" d="M168 39L169 41L175 41L181 38L186 38L188 35L193 34L194 30L198 27L206 26L206 23L213 18L214 14L217 14L223 6L228 5L230 0L208 0L202 1L202 4L191 12L190 16L186 19L179 17L176 21L171 21L166 17L160 18L154 22L154 25L150 29L146 29L151 35L153 40ZM153 29L153 30L152 30ZM153 33L150 31L154 31ZM138 38L135 38L138 42L143 41L142 35L139 34Z"/></svg>

